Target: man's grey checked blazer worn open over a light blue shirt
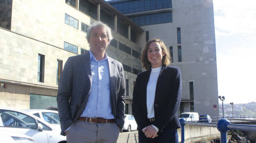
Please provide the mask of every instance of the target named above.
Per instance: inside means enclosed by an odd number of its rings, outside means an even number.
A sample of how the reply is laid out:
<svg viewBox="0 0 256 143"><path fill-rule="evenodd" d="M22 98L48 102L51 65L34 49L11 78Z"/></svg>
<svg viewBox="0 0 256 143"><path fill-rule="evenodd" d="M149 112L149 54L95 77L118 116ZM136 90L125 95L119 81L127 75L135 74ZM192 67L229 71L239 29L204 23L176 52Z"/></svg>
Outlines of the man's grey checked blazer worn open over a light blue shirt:
<svg viewBox="0 0 256 143"><path fill-rule="evenodd" d="M123 65L108 57L110 102L120 129L124 126L125 79ZM61 135L85 110L92 86L90 53L69 57L59 79L57 103ZM70 101L69 101L70 100Z"/></svg>

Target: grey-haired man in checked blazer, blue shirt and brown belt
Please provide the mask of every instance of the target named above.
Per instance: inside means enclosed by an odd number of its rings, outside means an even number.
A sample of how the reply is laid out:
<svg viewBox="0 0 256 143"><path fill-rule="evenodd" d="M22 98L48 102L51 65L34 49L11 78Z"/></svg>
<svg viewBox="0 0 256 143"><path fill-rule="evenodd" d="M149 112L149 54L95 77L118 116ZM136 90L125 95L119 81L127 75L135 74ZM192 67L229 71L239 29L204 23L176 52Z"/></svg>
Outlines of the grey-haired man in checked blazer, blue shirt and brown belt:
<svg viewBox="0 0 256 143"><path fill-rule="evenodd" d="M124 71L105 53L110 28L96 22L87 32L89 52L69 57L59 79L61 135L68 143L115 143L124 125Z"/></svg>

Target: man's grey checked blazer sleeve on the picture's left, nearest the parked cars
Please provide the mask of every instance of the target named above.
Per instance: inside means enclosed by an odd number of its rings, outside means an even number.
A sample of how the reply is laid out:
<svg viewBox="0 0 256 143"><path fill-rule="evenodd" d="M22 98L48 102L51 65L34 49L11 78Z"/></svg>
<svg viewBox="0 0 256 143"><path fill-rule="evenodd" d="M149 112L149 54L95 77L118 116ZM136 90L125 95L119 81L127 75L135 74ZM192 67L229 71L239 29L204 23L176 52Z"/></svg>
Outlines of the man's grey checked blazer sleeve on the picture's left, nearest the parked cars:
<svg viewBox="0 0 256 143"><path fill-rule="evenodd" d="M61 73L58 85L58 94L57 94L57 105L58 112L60 117L60 125L61 125L61 135L66 135L64 133L68 127L73 124L69 99L72 92L72 82L73 82L73 67L72 60L68 58Z"/></svg>

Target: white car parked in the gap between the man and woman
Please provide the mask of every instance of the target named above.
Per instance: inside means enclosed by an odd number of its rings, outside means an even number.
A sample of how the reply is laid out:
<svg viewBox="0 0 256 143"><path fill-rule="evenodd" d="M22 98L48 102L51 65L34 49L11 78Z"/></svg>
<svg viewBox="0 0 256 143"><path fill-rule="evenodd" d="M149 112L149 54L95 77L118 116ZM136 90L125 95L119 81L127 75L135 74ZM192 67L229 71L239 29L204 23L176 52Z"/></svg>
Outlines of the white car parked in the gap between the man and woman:
<svg viewBox="0 0 256 143"><path fill-rule="evenodd" d="M132 130L137 130L137 123L133 115L125 114L123 130L126 130L128 132Z"/></svg>

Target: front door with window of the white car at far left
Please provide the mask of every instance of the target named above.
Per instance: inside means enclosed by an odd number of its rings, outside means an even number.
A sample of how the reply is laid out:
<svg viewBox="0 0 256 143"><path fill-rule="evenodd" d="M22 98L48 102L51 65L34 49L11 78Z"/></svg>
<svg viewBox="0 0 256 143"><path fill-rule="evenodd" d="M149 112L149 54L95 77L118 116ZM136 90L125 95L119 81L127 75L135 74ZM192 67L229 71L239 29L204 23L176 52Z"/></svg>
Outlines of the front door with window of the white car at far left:
<svg viewBox="0 0 256 143"><path fill-rule="evenodd" d="M47 143L46 132L37 130L37 121L35 118L12 110L0 109L0 117L4 128L10 132L19 133L32 137L37 143Z"/></svg>

